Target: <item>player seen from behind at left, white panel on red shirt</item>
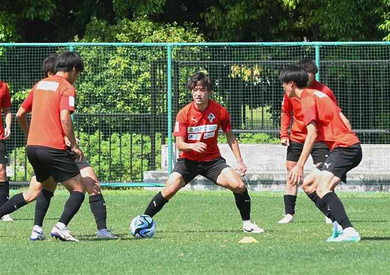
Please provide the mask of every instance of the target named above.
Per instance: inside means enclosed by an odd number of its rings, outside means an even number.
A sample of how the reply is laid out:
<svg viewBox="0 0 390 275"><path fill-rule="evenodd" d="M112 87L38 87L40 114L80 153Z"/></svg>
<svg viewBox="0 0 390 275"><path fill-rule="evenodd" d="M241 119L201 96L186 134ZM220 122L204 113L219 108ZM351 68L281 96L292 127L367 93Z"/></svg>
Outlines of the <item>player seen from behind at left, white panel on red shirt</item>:
<svg viewBox="0 0 390 275"><path fill-rule="evenodd" d="M53 196L52 191L57 182L61 182L70 196L51 236L62 241L78 241L70 235L67 226L84 200L85 188L64 137L69 139L72 151L82 159L71 114L75 110L76 97L73 84L83 68L84 63L77 53L61 53L56 59L56 75L34 85L22 104L22 111L18 112L19 125L27 136L27 157L43 188L37 201L33 228L39 239L45 238L41 225ZM30 111L31 125L27 121Z"/></svg>

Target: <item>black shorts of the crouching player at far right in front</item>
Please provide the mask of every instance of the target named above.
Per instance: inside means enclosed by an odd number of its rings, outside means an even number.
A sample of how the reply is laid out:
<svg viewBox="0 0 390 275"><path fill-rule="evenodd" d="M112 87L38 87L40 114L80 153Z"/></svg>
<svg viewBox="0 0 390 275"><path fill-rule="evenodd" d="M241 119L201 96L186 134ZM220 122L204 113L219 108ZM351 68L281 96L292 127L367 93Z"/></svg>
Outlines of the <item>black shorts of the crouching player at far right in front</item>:
<svg viewBox="0 0 390 275"><path fill-rule="evenodd" d="M359 165L362 156L360 143L350 147L337 147L331 150L329 157L318 169L320 171L329 171L345 182L347 172Z"/></svg>

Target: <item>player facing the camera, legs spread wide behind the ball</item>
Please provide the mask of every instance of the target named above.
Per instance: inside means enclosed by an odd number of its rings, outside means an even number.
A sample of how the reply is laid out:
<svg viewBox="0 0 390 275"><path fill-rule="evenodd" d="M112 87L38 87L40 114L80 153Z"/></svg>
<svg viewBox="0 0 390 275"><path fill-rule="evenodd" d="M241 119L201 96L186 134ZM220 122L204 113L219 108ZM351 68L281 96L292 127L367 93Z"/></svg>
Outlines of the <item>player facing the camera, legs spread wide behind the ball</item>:
<svg viewBox="0 0 390 275"><path fill-rule="evenodd" d="M248 190L236 171L221 157L217 146L218 130L222 128L238 162L238 170L241 176L244 176L247 168L234 137L228 112L217 102L209 99L212 82L204 73L195 73L189 79L187 87L194 101L179 111L174 131L176 146L181 154L163 191L152 198L145 215L155 216L179 189L197 175L202 175L215 184L233 191L244 232L264 232L251 222L251 197Z"/></svg>

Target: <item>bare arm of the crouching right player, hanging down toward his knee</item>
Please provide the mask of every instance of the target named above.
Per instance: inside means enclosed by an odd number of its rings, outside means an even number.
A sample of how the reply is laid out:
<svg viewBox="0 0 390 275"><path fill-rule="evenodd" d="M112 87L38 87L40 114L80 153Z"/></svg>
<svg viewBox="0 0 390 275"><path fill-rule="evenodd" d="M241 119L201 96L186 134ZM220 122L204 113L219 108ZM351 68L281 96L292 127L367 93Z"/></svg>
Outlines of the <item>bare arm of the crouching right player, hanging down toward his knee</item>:
<svg viewBox="0 0 390 275"><path fill-rule="evenodd" d="M314 121L310 122L306 128L308 129L308 135L306 136L305 143L303 145L301 156L298 159L298 162L292 168L289 173L289 179L292 184L299 185L303 180L303 166L306 163L310 153L312 152L315 139L317 138L317 126Z"/></svg>

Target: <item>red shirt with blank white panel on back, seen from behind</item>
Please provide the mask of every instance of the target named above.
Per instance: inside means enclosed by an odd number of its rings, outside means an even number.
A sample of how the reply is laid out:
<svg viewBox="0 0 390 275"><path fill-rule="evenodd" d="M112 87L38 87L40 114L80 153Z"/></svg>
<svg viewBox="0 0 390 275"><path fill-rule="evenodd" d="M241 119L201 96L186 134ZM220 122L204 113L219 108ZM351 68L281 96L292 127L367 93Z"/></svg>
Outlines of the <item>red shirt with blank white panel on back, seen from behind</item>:
<svg viewBox="0 0 390 275"><path fill-rule="evenodd" d="M62 110L75 111L75 88L64 78L52 76L40 80L21 104L31 111L27 145L65 150Z"/></svg>

